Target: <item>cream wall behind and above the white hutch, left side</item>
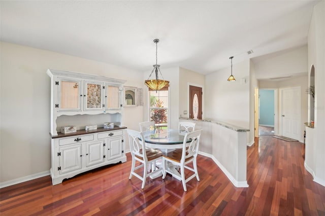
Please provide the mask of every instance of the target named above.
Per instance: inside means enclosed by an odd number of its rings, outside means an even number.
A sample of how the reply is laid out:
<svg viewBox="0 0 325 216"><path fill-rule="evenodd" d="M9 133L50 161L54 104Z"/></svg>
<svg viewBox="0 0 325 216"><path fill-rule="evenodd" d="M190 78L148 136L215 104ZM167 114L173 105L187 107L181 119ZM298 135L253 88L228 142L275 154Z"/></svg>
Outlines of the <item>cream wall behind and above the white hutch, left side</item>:
<svg viewBox="0 0 325 216"><path fill-rule="evenodd" d="M131 69L5 42L0 46L0 183L50 169L48 68L117 78L127 80L126 86L143 87L143 73ZM125 108L125 126L139 129L143 109Z"/></svg>

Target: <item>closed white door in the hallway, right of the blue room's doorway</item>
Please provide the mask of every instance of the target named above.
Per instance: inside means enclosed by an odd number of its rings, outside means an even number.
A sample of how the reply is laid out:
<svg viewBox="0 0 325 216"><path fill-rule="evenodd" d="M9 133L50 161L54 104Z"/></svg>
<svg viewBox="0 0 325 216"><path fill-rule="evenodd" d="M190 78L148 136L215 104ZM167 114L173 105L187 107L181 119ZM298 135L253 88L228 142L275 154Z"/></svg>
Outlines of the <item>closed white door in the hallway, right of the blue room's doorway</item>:
<svg viewBox="0 0 325 216"><path fill-rule="evenodd" d="M282 89L282 134L300 139L300 87Z"/></svg>

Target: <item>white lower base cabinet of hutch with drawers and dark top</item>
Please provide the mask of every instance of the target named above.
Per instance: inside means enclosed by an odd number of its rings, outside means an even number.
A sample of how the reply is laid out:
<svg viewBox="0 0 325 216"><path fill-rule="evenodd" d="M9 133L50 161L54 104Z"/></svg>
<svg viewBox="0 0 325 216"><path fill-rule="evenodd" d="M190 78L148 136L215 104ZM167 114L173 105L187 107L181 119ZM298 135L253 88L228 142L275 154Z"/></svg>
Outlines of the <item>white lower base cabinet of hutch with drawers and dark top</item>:
<svg viewBox="0 0 325 216"><path fill-rule="evenodd" d="M126 162L124 129L99 128L52 136L52 185L94 168Z"/></svg>

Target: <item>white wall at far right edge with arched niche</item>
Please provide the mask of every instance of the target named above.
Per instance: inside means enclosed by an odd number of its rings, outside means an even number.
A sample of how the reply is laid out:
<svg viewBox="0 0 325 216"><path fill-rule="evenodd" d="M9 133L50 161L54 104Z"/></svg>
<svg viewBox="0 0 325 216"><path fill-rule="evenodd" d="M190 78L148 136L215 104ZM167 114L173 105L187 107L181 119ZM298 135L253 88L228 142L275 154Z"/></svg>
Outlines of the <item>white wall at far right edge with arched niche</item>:
<svg viewBox="0 0 325 216"><path fill-rule="evenodd" d="M315 67L315 127L306 130L305 167L325 186L325 1L318 3L308 32L308 69ZM309 71L310 73L310 71ZM309 80L308 80L309 81ZM311 131L312 130L312 131ZM310 133L308 133L310 132Z"/></svg>

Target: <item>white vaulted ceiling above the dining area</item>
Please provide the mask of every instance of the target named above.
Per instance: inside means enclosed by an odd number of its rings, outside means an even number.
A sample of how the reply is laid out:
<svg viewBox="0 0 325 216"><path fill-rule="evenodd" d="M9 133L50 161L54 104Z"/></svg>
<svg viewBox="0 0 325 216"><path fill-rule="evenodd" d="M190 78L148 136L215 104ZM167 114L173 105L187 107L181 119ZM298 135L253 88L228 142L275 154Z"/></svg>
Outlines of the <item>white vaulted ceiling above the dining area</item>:
<svg viewBox="0 0 325 216"><path fill-rule="evenodd" d="M306 45L318 2L2 0L0 39L149 73L158 38L162 71L206 75Z"/></svg>

